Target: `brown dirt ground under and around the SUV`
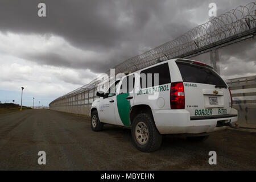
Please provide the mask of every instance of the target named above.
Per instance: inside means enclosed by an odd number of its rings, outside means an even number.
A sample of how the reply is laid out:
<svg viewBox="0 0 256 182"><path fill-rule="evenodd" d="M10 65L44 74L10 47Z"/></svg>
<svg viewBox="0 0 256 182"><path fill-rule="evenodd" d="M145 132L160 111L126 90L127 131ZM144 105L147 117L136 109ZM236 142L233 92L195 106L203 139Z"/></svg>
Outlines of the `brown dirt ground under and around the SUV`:
<svg viewBox="0 0 256 182"><path fill-rule="evenodd" d="M46 165L38 152L46 152ZM217 165L208 163L217 152ZM160 150L143 153L129 129L105 125L93 132L90 118L47 109L0 115L1 170L256 170L256 133L225 130L192 143L166 136Z"/></svg>

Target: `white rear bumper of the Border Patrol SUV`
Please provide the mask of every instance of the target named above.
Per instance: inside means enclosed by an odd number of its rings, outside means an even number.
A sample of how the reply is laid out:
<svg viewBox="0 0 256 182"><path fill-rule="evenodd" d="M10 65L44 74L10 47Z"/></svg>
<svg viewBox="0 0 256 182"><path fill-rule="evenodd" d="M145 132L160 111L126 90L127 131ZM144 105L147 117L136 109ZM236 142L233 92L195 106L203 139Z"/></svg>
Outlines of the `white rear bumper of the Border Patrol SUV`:
<svg viewBox="0 0 256 182"><path fill-rule="evenodd" d="M152 110L152 114L160 134L212 133L228 127L216 127L218 121L237 121L237 110L233 108L229 115L217 115L212 118L190 117L187 110Z"/></svg>

